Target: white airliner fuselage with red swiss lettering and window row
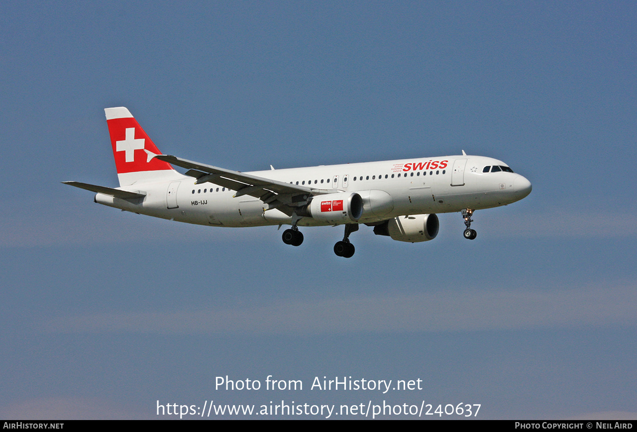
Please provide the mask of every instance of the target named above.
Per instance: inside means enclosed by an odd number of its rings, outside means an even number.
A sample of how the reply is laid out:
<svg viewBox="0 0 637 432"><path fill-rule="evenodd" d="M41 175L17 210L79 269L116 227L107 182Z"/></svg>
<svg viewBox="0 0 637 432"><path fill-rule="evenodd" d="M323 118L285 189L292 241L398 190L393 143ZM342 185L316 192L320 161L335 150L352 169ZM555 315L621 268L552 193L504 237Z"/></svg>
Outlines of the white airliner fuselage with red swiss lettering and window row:
<svg viewBox="0 0 637 432"><path fill-rule="evenodd" d="M505 206L526 197L531 183L513 172L483 172L499 160L479 156L445 156L345 165L257 171L261 178L304 185L323 192L357 192L364 202L358 223L375 223L408 214L458 212ZM97 193L96 202L134 213L211 226L290 225L292 219L261 200L177 172L152 183L118 188L144 192L134 202ZM319 195L324 197L326 195ZM329 195L327 195L329 196ZM299 226L333 225L304 217Z"/></svg>

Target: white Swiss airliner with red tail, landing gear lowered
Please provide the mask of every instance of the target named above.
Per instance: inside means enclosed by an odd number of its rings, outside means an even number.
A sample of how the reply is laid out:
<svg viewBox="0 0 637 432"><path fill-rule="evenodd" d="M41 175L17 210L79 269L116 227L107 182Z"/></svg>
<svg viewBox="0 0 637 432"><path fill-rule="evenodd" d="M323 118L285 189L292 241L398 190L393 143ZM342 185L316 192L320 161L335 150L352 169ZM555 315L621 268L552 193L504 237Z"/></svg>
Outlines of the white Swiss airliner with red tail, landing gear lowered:
<svg viewBox="0 0 637 432"><path fill-rule="evenodd" d="M299 226L345 226L334 245L350 258L352 232L425 242L438 235L438 213L461 212L473 240L473 212L506 206L531 182L501 160L462 155L240 172L162 154L124 107L106 108L120 186L64 181L95 192L94 202L132 213L206 226L290 225L283 242L303 243ZM187 171L181 174L172 165Z"/></svg>

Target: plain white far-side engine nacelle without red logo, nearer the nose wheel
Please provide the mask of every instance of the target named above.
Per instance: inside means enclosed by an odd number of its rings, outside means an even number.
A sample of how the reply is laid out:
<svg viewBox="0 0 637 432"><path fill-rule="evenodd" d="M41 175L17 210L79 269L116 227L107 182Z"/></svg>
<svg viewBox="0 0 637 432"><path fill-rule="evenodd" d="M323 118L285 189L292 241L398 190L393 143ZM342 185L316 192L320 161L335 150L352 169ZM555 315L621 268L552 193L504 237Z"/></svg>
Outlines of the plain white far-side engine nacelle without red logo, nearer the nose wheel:
<svg viewBox="0 0 637 432"><path fill-rule="evenodd" d="M412 214L389 219L374 226L376 235L389 235L399 242L426 242L438 235L440 222L435 214Z"/></svg>

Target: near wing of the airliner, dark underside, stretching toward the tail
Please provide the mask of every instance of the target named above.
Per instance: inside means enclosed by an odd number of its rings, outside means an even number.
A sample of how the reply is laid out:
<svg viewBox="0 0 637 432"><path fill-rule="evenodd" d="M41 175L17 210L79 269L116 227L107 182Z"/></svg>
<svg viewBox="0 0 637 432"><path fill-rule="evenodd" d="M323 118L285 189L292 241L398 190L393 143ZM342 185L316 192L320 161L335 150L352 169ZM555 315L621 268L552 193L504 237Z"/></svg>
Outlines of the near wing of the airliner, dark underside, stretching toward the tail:
<svg viewBox="0 0 637 432"><path fill-rule="evenodd" d="M266 179L244 172L199 164L171 155L156 155L155 158L188 169L187 176L197 179L196 184L214 183L235 190L235 197L250 195L269 204L270 208L291 206L297 207L307 202L311 195L331 193L308 186L292 185L283 181ZM284 211L282 209L282 211ZM287 212L286 212L287 213Z"/></svg>

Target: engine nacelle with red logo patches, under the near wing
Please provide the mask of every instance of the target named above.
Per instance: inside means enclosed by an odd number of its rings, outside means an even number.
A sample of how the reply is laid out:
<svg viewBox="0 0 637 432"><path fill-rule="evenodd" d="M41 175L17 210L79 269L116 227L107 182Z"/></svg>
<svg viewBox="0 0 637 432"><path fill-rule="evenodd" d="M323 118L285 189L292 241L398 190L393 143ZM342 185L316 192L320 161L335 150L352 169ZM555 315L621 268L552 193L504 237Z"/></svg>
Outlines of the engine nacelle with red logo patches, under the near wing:
<svg viewBox="0 0 637 432"><path fill-rule="evenodd" d="M355 192L318 195L308 206L310 216L327 223L352 223L362 216L361 195Z"/></svg>

